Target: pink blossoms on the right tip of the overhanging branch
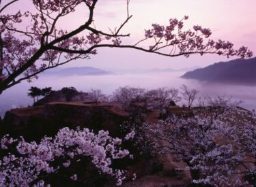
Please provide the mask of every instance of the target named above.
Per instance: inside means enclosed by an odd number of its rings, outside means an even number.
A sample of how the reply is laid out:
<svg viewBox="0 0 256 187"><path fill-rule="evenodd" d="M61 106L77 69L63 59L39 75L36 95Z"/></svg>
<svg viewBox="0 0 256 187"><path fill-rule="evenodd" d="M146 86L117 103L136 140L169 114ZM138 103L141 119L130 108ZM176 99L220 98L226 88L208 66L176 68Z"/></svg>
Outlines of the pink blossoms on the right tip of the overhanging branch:
<svg viewBox="0 0 256 187"><path fill-rule="evenodd" d="M213 41L209 39L204 41L212 35L210 29L205 29L199 25L195 25L193 30L183 31L184 20L188 16L184 16L182 20L176 18L169 20L169 25L162 26L160 24L152 24L152 29L145 30L146 39L153 39L154 45L150 46L151 51L160 51L162 48L169 47L169 54L184 54L189 56L193 53L211 54L216 53L225 56L241 56L242 58L251 57L253 53L246 47L238 50L233 49L233 44L229 41Z"/></svg>

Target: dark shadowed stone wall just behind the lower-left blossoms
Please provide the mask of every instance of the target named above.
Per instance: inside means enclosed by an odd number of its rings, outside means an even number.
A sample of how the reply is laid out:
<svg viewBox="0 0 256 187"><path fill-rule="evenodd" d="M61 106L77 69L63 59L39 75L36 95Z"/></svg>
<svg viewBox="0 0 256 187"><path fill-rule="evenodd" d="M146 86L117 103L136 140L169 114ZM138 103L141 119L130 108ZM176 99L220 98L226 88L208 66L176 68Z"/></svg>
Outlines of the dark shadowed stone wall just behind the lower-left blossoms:
<svg viewBox="0 0 256 187"><path fill-rule="evenodd" d="M128 115L113 111L113 105L85 105L83 103L48 103L40 108L13 109L5 114L1 134L20 135L28 141L39 140L44 135L54 136L59 129L68 126L87 127L94 131L105 130L120 136L119 124Z"/></svg>

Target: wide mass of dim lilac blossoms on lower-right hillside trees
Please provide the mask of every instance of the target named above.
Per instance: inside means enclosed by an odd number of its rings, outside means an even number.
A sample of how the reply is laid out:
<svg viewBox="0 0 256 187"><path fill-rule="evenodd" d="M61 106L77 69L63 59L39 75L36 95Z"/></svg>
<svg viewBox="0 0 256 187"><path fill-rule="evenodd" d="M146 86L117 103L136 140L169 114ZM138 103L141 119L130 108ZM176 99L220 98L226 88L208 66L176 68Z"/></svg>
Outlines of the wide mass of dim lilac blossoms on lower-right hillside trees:
<svg viewBox="0 0 256 187"><path fill-rule="evenodd" d="M193 116L143 124L146 139L156 142L155 152L170 152L184 161L194 183L246 185L239 174L255 177L256 173L255 114L228 99L210 102L193 109Z"/></svg>

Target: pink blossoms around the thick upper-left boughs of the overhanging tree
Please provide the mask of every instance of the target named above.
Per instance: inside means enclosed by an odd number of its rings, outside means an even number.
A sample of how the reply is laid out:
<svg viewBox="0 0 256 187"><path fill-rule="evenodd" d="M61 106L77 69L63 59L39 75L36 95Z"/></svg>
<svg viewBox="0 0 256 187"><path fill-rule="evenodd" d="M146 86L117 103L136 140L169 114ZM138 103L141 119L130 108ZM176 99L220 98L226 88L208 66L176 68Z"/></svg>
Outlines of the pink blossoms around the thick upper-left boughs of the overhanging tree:
<svg viewBox="0 0 256 187"><path fill-rule="evenodd" d="M12 6L12 2L8 6ZM33 5L38 12L20 12L16 14L0 15L1 30L1 59L0 59L0 81L7 81L18 69L27 66L29 60L33 63L22 71L23 78L18 81L7 82L16 84L21 80L31 81L38 78L37 74L45 69L63 65L77 58L90 58L90 54L96 54L96 49L91 49L83 54L63 50L87 50L111 37L104 37L96 29L88 26L84 35L72 35L66 37L70 31L56 27L57 22L63 16L75 11L76 7L85 4L92 12L93 0L52 1L33 0ZM89 18L88 22L91 22ZM22 29L23 25L26 29ZM88 29L89 28L89 29ZM77 33L79 34L79 32ZM111 34L109 34L111 35ZM63 39L59 39L63 37ZM56 39L59 39L56 41ZM54 43L54 44L53 44ZM121 44L120 39L113 40L111 44ZM46 47L47 46L47 47ZM54 48L53 48L54 46ZM61 48L56 50L55 48ZM36 58L34 58L37 56Z"/></svg>

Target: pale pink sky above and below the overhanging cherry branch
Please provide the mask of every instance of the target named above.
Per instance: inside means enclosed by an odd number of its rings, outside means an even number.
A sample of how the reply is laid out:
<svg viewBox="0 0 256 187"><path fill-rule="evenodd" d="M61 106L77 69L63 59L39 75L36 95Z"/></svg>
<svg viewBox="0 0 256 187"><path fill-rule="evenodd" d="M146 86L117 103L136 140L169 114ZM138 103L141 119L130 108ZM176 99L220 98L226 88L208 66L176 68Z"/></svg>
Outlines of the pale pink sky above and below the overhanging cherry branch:
<svg viewBox="0 0 256 187"><path fill-rule="evenodd" d="M16 8L29 8L27 0L21 0ZM212 29L213 39L225 39L233 42L238 48L248 46L256 54L256 1L255 0L130 0L132 20L126 24L123 33L131 37L125 43L134 44L143 38L144 29L152 23L167 24L169 18L182 18L188 15L186 28L200 24ZM126 18L126 0L99 0L95 10L95 24L98 29L109 31L108 27L118 27ZM61 26L75 28L85 22L86 11L79 8L76 14L62 20ZM195 65L205 67L218 61L229 59L218 55L190 58L169 58L156 54L146 54L127 49L98 50L98 55L89 61L76 61L68 66L94 66L104 69L134 68L182 68Z"/></svg>

